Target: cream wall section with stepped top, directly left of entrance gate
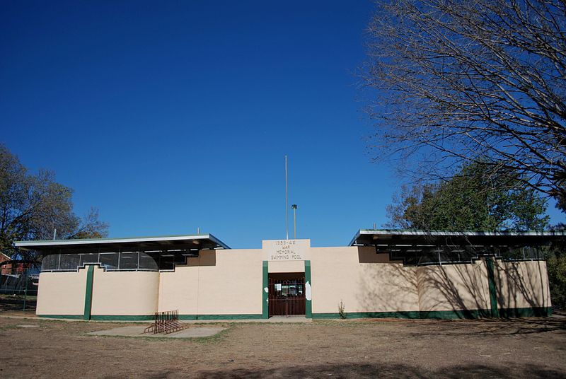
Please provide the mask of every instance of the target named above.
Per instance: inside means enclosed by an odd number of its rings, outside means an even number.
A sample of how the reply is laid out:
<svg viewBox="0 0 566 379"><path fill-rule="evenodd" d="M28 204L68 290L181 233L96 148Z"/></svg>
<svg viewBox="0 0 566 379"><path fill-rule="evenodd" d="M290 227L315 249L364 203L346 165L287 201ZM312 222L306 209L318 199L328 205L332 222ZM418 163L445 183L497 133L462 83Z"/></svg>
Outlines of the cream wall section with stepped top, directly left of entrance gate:
<svg viewBox="0 0 566 379"><path fill-rule="evenodd" d="M203 250L175 272L161 272L159 310L181 315L262 313L261 250Z"/></svg>

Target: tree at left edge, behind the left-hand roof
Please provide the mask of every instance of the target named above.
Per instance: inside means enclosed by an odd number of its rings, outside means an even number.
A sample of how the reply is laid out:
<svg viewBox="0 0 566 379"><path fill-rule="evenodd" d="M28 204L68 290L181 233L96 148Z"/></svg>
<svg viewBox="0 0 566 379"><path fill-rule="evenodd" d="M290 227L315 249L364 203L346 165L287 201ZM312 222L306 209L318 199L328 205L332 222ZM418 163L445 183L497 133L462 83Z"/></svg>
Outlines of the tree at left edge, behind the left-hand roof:
<svg viewBox="0 0 566 379"><path fill-rule="evenodd" d="M58 238L97 238L108 234L108 224L91 209L81 218L73 212L72 189L55 181L54 173L36 175L0 145L0 251L23 260L33 253L18 252L14 240L48 240L57 229Z"/></svg>

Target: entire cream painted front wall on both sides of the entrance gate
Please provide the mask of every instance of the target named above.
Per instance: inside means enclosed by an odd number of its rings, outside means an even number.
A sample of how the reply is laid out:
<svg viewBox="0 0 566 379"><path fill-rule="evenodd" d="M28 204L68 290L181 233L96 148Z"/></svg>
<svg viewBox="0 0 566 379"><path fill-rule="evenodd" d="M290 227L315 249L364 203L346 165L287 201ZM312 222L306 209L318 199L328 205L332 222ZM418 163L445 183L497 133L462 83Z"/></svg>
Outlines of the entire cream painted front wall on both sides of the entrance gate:
<svg viewBox="0 0 566 379"><path fill-rule="evenodd" d="M490 308L487 267L403 267L373 247L311 247L313 313ZM262 250L203 250L174 272L93 275L92 315L260 315ZM269 272L304 272L304 262L269 262ZM548 307L545 262L495 264L500 308ZM86 269L40 274L38 315L82 315Z"/></svg>

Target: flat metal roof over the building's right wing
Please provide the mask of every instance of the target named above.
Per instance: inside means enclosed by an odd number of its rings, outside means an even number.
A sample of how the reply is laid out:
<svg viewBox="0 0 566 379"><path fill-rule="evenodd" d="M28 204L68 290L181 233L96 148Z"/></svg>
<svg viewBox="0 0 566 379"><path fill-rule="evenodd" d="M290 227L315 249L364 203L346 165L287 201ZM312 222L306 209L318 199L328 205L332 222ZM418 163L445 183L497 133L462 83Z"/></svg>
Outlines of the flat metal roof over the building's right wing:
<svg viewBox="0 0 566 379"><path fill-rule="evenodd" d="M566 238L566 232L417 231L360 229L350 246L374 245L548 245Z"/></svg>

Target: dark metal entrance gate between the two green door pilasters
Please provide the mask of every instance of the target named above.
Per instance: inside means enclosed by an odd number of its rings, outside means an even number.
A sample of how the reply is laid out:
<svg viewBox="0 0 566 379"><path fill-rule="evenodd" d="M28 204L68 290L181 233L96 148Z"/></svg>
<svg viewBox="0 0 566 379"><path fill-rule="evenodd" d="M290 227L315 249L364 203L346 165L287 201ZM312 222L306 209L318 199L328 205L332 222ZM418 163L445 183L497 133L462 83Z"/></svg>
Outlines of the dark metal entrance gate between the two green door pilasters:
<svg viewBox="0 0 566 379"><path fill-rule="evenodd" d="M269 281L269 315L304 315L305 279Z"/></svg>

